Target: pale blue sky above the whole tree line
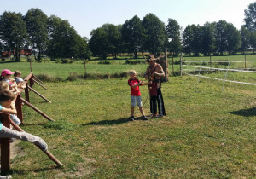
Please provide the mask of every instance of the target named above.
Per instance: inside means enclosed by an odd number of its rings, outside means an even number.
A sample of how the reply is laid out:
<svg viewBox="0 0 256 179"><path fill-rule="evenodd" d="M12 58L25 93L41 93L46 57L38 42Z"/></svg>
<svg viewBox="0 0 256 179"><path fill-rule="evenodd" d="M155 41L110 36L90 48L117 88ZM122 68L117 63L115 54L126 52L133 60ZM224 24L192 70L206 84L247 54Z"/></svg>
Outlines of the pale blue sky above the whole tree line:
<svg viewBox="0 0 256 179"><path fill-rule="evenodd" d="M90 38L90 31L105 23L124 24L137 15L141 20L149 13L167 23L177 20L185 28L191 24L203 26L207 21L226 20L240 29L244 24L244 9L253 0L0 0L0 14L4 11L21 13L41 9L68 20L81 35Z"/></svg>

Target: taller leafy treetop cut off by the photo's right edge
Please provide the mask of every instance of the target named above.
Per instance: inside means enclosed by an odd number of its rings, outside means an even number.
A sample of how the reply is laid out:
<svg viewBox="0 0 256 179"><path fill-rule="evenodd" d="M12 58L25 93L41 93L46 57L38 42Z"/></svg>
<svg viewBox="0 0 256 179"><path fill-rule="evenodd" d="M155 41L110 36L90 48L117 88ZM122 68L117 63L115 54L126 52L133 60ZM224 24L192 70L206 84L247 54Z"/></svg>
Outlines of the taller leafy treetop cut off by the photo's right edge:
<svg viewBox="0 0 256 179"><path fill-rule="evenodd" d="M256 31L256 2L250 3L248 5L248 9L244 10L245 18L243 19L245 21L245 27L251 31Z"/></svg>

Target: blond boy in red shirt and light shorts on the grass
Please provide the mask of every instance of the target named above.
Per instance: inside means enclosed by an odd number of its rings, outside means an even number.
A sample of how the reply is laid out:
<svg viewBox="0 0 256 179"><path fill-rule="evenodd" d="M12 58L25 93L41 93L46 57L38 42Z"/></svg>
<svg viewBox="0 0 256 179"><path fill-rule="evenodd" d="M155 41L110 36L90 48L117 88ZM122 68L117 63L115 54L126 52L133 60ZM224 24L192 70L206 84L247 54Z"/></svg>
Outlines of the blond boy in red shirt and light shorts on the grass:
<svg viewBox="0 0 256 179"><path fill-rule="evenodd" d="M135 72L134 70L131 70L129 74L130 79L128 80L128 84L131 87L131 121L134 120L134 108L136 107L136 104L137 107L139 107L140 112L143 114L143 120L148 120L143 111L143 102L139 85L148 85L152 82L143 83L143 81L138 80L136 78L137 72Z"/></svg>

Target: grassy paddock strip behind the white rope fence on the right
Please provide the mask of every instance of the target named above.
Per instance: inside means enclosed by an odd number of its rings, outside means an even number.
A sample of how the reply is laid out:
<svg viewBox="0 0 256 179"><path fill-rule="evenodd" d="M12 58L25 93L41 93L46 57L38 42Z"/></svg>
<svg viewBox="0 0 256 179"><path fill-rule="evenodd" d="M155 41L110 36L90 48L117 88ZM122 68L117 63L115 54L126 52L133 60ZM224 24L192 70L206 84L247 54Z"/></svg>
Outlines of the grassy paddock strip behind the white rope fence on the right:
<svg viewBox="0 0 256 179"><path fill-rule="evenodd" d="M236 84L256 85L256 61L183 61L182 73ZM224 84L223 84L224 85Z"/></svg>

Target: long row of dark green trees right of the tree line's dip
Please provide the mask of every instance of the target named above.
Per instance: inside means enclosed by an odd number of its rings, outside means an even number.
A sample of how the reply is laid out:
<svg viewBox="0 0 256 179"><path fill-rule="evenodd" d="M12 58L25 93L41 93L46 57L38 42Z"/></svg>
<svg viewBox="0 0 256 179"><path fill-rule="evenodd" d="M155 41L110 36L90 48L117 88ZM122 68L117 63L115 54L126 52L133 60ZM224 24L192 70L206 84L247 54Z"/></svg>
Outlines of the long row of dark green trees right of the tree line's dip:
<svg viewBox="0 0 256 179"><path fill-rule="evenodd" d="M145 51L159 55L166 48L172 55L180 52L195 56L245 53L256 49L256 3L249 4L244 12L245 25L240 30L225 20L182 29L171 18L165 26L154 14L147 14L143 20L135 15L123 25L104 24L92 30L89 46L92 54L102 59L108 54L116 58L119 52L133 53L135 58L138 52Z"/></svg>

